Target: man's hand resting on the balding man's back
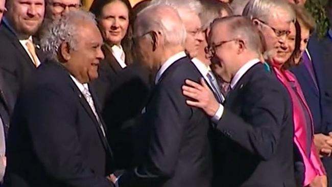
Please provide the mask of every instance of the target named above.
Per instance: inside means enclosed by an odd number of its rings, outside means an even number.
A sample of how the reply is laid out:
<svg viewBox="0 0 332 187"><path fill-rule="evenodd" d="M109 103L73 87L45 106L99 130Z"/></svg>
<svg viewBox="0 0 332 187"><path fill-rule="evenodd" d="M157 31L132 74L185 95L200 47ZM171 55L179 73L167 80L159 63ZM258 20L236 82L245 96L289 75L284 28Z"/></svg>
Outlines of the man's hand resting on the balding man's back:
<svg viewBox="0 0 332 187"><path fill-rule="evenodd" d="M205 80L201 78L201 84L185 80L185 84L182 86L183 95L196 100L186 100L186 103L190 106L203 109L211 117L214 116L219 108L219 103L214 93L206 85Z"/></svg>

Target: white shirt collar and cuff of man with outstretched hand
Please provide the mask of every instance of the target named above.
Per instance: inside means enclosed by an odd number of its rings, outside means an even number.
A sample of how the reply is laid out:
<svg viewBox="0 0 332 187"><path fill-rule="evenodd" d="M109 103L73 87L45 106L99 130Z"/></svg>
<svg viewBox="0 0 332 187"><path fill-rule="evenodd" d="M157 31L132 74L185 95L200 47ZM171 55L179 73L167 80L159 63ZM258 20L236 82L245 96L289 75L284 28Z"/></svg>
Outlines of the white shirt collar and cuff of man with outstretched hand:
<svg viewBox="0 0 332 187"><path fill-rule="evenodd" d="M243 77L243 75L256 63L259 63L260 60L258 58L249 60L247 63L245 63L239 70L236 72L235 76L230 81L230 88L233 89L236 84L240 81L240 79ZM221 119L222 115L224 113L224 106L222 104L219 104L219 108L215 114L215 116L212 118L212 121L215 123L218 123L218 121Z"/></svg>

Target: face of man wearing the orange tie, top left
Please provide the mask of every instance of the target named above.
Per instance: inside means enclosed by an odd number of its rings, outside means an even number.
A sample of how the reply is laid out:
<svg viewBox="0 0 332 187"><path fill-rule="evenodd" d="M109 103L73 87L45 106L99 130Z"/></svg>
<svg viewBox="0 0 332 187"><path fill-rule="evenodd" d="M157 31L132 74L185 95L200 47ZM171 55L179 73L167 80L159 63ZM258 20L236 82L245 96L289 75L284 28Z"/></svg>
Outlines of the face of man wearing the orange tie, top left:
<svg viewBox="0 0 332 187"><path fill-rule="evenodd" d="M44 18L45 4L43 0L11 0L8 3L6 18L15 32L22 39L34 35Z"/></svg>

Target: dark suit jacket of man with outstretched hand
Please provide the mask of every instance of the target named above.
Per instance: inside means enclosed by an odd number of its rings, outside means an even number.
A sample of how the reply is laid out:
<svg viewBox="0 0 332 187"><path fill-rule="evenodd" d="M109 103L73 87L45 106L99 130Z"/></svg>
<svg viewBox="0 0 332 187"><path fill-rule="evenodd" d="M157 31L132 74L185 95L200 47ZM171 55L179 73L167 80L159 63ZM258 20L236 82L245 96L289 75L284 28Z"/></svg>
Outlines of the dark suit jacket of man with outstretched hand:
<svg viewBox="0 0 332 187"><path fill-rule="evenodd" d="M225 142L216 148L215 186L295 186L294 125L287 90L258 63L225 101L216 125Z"/></svg>

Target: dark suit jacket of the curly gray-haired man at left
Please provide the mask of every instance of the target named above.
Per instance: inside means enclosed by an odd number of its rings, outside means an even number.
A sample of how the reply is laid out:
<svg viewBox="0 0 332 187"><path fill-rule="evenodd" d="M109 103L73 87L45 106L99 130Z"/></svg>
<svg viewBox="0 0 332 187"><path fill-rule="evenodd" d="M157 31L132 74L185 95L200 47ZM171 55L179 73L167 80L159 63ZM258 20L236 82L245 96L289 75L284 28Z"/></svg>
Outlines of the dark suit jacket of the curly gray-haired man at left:
<svg viewBox="0 0 332 187"><path fill-rule="evenodd" d="M42 64L22 88L6 154L8 187L113 186L106 179L113 172L106 138L69 73L56 62Z"/></svg>

